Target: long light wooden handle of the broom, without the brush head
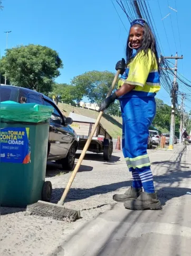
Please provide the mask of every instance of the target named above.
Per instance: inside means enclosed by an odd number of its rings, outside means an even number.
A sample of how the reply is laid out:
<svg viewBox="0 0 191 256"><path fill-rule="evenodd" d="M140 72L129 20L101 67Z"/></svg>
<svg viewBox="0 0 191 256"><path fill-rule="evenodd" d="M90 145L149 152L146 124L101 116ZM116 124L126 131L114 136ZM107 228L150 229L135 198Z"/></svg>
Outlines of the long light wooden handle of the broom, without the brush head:
<svg viewBox="0 0 191 256"><path fill-rule="evenodd" d="M118 70L117 73L116 73L116 75L114 76L114 79L113 79L111 88L109 89L109 92L108 92L107 97L109 97L109 96L111 95L112 90L114 89L114 86L116 85L116 82L117 82L117 79L118 79L118 77L119 77L119 74L120 74L120 70ZM78 170L79 170L79 168L80 168L80 166L81 166L81 163L82 163L82 161L83 161L83 159L84 159L84 157L85 157L85 153L87 152L87 150L88 150L88 148L89 148L89 145L90 145L91 140L92 140L92 138L93 138L94 132L96 131L97 126L98 126L98 124L99 124L99 122L100 122L100 119L101 119L102 114L103 114L103 111L101 111L101 112L99 113L99 116L98 116L98 118L97 118L97 120L96 120L96 123L95 123L94 126L93 126L93 130L91 131L91 134L90 134L90 136L89 136L87 142L86 142L85 145L84 145L84 148L83 148L82 153L81 153L81 155L80 155L80 158L79 158L79 160L78 160L78 162L77 162L77 165L75 166L75 168L74 168L74 170L73 170L73 172L72 172L72 175L71 175L71 177L70 177L70 179L69 179L69 181L68 181L67 186L66 186L65 189L64 189L64 193L63 193L63 195L62 195L60 201L58 202L58 205L63 205L63 204L64 204L65 198L66 198L66 196L67 196L68 193L69 193L69 190L70 190L70 187L71 187L71 185L72 185L72 182L73 182L75 176L77 175L77 172L78 172Z"/></svg>

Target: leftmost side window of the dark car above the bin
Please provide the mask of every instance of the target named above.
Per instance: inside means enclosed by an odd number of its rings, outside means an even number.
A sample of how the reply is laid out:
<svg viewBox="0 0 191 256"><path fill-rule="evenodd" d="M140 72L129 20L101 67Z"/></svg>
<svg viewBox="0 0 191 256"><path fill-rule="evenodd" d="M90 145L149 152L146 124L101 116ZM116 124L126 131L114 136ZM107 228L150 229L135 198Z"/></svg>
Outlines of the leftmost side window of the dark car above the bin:
<svg viewBox="0 0 191 256"><path fill-rule="evenodd" d="M18 102L18 89L15 87L0 86L0 101L6 102L7 100Z"/></svg>

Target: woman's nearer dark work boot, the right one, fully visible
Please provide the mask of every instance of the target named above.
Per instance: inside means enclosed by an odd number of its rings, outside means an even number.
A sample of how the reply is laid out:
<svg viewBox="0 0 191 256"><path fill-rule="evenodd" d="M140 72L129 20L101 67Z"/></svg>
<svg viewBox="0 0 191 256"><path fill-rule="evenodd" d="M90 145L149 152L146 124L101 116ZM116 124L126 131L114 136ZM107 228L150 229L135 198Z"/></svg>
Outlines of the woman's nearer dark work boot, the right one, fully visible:
<svg viewBox="0 0 191 256"><path fill-rule="evenodd" d="M124 203L125 208L131 210L159 210L161 209L160 201L157 198L157 193L142 192L137 199L127 200Z"/></svg>

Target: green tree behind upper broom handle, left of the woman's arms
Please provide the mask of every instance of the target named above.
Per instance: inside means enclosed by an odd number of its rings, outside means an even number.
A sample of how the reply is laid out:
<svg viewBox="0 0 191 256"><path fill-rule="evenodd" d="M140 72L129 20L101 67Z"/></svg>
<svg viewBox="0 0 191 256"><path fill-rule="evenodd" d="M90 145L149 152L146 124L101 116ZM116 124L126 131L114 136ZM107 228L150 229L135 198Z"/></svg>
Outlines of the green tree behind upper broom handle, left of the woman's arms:
<svg viewBox="0 0 191 256"><path fill-rule="evenodd" d="M114 74L109 71L88 71L74 77L72 85L88 97L92 103L101 103L111 87Z"/></svg>

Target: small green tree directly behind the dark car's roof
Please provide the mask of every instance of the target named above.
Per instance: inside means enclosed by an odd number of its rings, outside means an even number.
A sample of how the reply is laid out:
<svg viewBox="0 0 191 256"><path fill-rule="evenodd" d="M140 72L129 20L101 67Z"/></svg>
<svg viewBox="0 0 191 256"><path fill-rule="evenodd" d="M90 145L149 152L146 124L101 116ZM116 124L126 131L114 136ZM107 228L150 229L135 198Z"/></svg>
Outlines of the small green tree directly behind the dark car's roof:
<svg viewBox="0 0 191 256"><path fill-rule="evenodd" d="M49 97L60 95L60 100L64 103L74 104L75 102L79 102L83 98L83 94L77 88L77 86L72 86L68 84L54 84L53 90L49 94Z"/></svg>

